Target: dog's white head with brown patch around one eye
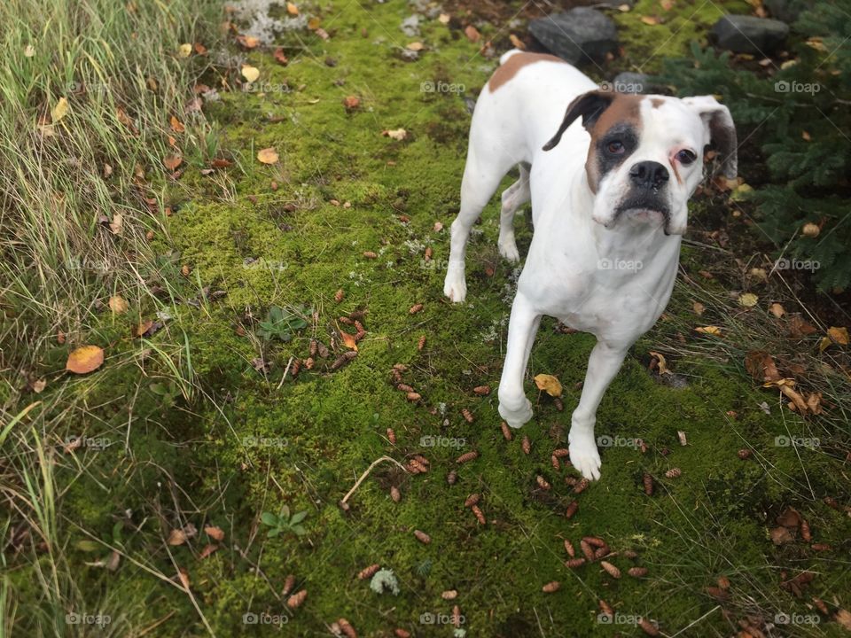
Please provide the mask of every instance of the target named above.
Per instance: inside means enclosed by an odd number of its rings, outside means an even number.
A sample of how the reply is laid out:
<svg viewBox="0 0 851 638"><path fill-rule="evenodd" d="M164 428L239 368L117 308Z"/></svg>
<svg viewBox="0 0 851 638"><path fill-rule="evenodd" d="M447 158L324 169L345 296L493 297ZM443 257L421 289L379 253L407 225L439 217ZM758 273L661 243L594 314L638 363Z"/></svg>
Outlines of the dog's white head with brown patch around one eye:
<svg viewBox="0 0 851 638"><path fill-rule="evenodd" d="M724 175L737 171L736 128L712 96L627 95L592 90L574 99L549 151L578 118L591 136L585 172L594 194L592 217L612 228L628 217L660 222L667 235L685 232L686 203L703 179L711 143Z"/></svg>

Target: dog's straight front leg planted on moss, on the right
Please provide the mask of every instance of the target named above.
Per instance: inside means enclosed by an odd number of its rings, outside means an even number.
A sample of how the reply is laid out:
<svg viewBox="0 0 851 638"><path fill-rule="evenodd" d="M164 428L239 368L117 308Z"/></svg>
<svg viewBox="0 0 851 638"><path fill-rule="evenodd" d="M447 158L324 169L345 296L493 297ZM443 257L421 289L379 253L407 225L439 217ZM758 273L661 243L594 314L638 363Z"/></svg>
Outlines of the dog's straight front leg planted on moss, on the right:
<svg viewBox="0 0 851 638"><path fill-rule="evenodd" d="M600 455L594 439L594 424L597 422L597 407L605 389L621 370L628 347L610 346L597 341L588 360L588 371L582 385L582 397L574 409L570 421L570 462L589 480L600 478Z"/></svg>

